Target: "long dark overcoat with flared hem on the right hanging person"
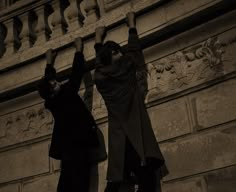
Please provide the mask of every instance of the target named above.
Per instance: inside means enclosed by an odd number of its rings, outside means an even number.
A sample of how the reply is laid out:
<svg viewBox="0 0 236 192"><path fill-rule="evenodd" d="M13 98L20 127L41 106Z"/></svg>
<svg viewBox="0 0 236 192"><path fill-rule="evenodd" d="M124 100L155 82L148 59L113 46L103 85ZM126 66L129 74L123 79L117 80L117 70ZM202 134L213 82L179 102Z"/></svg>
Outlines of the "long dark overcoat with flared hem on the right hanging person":
<svg viewBox="0 0 236 192"><path fill-rule="evenodd" d="M97 57L103 48L96 44ZM141 161L156 159L161 166L164 158L156 141L136 72L144 66L144 56L136 29L129 30L128 49L119 66L104 65L97 58L95 83L107 110L109 153L107 180L121 181L124 175L125 143L129 139Z"/></svg>

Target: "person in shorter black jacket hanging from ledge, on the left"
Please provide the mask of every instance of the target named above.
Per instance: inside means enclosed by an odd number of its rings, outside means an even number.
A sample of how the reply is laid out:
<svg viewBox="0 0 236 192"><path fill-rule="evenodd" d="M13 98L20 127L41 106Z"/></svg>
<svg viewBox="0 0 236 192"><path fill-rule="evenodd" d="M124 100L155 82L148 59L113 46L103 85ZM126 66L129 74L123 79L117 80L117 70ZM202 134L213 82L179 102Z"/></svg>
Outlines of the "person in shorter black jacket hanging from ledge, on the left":
<svg viewBox="0 0 236 192"><path fill-rule="evenodd" d="M85 103L78 95L82 76L86 71L82 40L75 40L76 53L69 80L56 80L53 67L56 54L46 52L45 76L39 85L39 94L45 99L45 108L54 118L49 156L61 160L58 192L89 191L90 150L98 145L97 125Z"/></svg>

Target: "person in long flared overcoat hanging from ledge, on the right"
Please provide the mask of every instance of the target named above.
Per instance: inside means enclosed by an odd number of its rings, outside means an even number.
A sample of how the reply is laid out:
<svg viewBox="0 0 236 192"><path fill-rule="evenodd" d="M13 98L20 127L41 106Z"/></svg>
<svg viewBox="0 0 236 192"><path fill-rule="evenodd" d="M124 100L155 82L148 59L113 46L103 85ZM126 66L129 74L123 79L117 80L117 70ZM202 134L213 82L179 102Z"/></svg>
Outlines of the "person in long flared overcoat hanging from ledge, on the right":
<svg viewBox="0 0 236 192"><path fill-rule="evenodd" d="M113 41L103 44L105 28L96 29L95 83L105 101L109 124L105 192L119 191L130 175L137 178L139 192L156 192L161 190L160 178L168 171L144 103L145 89L137 82L145 61L134 13L127 19L126 49Z"/></svg>

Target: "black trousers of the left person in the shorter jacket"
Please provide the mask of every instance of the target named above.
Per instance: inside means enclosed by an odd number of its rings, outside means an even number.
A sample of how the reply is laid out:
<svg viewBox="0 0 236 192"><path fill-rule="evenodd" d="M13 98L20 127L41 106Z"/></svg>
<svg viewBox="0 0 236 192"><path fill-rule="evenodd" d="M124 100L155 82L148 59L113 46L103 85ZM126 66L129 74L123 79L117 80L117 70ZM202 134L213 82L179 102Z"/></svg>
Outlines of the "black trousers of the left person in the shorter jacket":
<svg viewBox="0 0 236 192"><path fill-rule="evenodd" d="M57 192L88 192L90 164L87 153L83 156L61 160L61 175Z"/></svg>

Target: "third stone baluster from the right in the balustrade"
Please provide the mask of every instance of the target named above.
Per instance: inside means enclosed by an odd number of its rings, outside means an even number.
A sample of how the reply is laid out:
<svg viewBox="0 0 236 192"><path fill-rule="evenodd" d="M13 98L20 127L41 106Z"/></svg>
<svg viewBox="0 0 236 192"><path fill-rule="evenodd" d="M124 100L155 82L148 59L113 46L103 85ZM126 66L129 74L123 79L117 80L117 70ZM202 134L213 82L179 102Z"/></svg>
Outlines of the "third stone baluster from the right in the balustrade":
<svg viewBox="0 0 236 192"><path fill-rule="evenodd" d="M54 0L52 2L52 8L54 10L52 14L52 34L51 38L62 36L66 33L67 24L64 19L62 3L59 0Z"/></svg>

